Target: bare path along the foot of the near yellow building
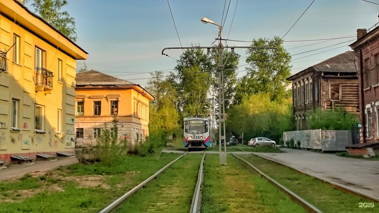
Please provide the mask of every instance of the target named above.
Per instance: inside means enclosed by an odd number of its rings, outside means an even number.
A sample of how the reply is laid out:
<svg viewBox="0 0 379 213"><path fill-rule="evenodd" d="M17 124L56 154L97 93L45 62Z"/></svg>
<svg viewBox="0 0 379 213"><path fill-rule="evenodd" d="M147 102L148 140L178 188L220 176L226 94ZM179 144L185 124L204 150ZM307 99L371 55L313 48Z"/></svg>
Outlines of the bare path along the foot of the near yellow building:
<svg viewBox="0 0 379 213"><path fill-rule="evenodd" d="M59 166L67 166L77 163L78 160L74 157L64 157L56 161L49 160L34 160L34 164L11 164L6 169L0 169L0 181L10 178L22 177L24 174L35 171L49 171Z"/></svg>

